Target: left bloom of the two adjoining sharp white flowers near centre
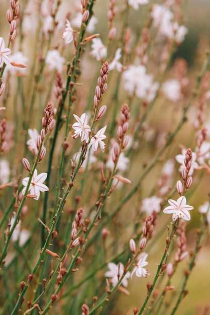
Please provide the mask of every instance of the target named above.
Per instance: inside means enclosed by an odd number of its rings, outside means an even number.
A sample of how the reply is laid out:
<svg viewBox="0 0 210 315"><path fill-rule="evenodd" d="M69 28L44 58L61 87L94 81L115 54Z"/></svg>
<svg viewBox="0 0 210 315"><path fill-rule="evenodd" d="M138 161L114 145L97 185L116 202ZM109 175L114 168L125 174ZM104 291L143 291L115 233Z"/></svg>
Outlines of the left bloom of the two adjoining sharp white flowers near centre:
<svg viewBox="0 0 210 315"><path fill-rule="evenodd" d="M87 124L87 115L84 113L80 118L77 115L73 116L77 122L72 125L72 128L75 130L72 138L81 137L81 141L85 140L87 143L89 141L89 132L91 131L90 126Z"/></svg>

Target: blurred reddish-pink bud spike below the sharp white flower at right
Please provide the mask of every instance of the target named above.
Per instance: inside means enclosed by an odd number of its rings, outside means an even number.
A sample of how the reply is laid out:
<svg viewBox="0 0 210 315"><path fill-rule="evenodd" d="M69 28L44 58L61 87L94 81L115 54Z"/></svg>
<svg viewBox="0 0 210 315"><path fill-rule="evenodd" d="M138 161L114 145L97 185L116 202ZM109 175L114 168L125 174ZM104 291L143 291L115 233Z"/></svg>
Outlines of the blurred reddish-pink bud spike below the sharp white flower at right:
<svg viewBox="0 0 210 315"><path fill-rule="evenodd" d="M182 261L188 254L186 252L186 235L185 235L185 229L186 229L186 222L181 221L179 229L177 230L177 241L176 241L176 248L177 251L175 253L175 262Z"/></svg>

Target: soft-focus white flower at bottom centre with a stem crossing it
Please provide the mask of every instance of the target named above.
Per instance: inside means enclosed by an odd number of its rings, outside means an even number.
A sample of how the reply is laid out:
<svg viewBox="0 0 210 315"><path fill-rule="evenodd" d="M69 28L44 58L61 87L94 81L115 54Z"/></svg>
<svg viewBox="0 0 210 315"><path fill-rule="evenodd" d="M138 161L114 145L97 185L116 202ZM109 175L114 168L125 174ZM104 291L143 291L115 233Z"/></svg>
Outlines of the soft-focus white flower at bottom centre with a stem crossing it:
<svg viewBox="0 0 210 315"><path fill-rule="evenodd" d="M108 263L109 271L105 273L105 277L112 278L111 282L113 286L116 286L118 281L122 278L124 274L124 266L122 263L119 265L116 265L114 263ZM120 274L120 278L118 279L118 275ZM128 278L130 278L131 273L128 271L125 275L125 277L122 279L121 283L123 286L128 286Z"/></svg>

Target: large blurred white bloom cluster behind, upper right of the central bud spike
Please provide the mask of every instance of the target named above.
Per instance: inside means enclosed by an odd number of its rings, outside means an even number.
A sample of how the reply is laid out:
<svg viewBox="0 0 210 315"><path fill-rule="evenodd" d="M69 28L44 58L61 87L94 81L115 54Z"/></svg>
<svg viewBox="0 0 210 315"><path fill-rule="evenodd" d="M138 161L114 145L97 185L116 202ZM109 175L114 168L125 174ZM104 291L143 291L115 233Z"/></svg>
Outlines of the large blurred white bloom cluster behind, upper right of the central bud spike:
<svg viewBox="0 0 210 315"><path fill-rule="evenodd" d="M124 89L129 95L135 94L139 98L144 98L151 89L153 76L146 74L144 65L130 65L128 70L123 72L123 78L126 81Z"/></svg>

